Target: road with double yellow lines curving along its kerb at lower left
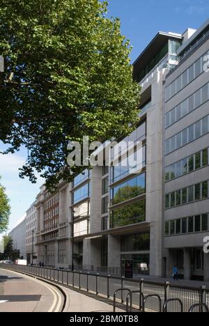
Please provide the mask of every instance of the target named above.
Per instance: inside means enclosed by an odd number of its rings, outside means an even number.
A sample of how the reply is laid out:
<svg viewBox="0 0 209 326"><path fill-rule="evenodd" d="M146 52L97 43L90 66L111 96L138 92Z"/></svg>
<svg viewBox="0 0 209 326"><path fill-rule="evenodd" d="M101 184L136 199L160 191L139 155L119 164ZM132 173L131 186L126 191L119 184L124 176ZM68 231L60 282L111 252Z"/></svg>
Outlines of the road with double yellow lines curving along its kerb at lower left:
<svg viewBox="0 0 209 326"><path fill-rule="evenodd" d="M57 288L0 268L0 312L59 312L63 295Z"/></svg>

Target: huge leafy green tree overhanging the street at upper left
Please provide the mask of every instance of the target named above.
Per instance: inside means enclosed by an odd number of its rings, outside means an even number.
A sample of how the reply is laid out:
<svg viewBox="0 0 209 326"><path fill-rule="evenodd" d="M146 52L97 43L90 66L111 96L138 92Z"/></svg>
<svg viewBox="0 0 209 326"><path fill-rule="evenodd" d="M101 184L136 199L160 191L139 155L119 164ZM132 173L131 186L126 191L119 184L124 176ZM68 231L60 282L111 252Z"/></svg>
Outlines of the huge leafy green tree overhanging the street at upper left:
<svg viewBox="0 0 209 326"><path fill-rule="evenodd" d="M70 180L69 141L118 139L138 122L130 43L106 13L98 0L0 0L0 139L4 154L27 148L22 178Z"/></svg>

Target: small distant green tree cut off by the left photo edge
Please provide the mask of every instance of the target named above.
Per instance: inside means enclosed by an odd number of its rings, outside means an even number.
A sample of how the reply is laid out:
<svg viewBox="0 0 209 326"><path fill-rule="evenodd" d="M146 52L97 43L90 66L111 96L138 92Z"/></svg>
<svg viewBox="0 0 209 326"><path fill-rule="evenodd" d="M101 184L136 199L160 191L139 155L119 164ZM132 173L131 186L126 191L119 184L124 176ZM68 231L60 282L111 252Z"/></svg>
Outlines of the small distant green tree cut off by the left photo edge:
<svg viewBox="0 0 209 326"><path fill-rule="evenodd" d="M0 177L1 178L1 177ZM0 183L0 233L6 231L10 216L10 205L5 188Z"/></svg>

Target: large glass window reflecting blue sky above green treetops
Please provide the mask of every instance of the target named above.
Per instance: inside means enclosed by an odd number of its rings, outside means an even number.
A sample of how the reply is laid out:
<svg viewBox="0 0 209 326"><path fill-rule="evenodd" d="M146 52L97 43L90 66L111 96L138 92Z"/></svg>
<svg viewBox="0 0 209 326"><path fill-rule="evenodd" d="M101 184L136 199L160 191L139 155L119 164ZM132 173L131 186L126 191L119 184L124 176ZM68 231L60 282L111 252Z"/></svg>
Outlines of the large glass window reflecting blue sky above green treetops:
<svg viewBox="0 0 209 326"><path fill-rule="evenodd" d="M146 192L146 173L111 189L111 205L122 203Z"/></svg>

